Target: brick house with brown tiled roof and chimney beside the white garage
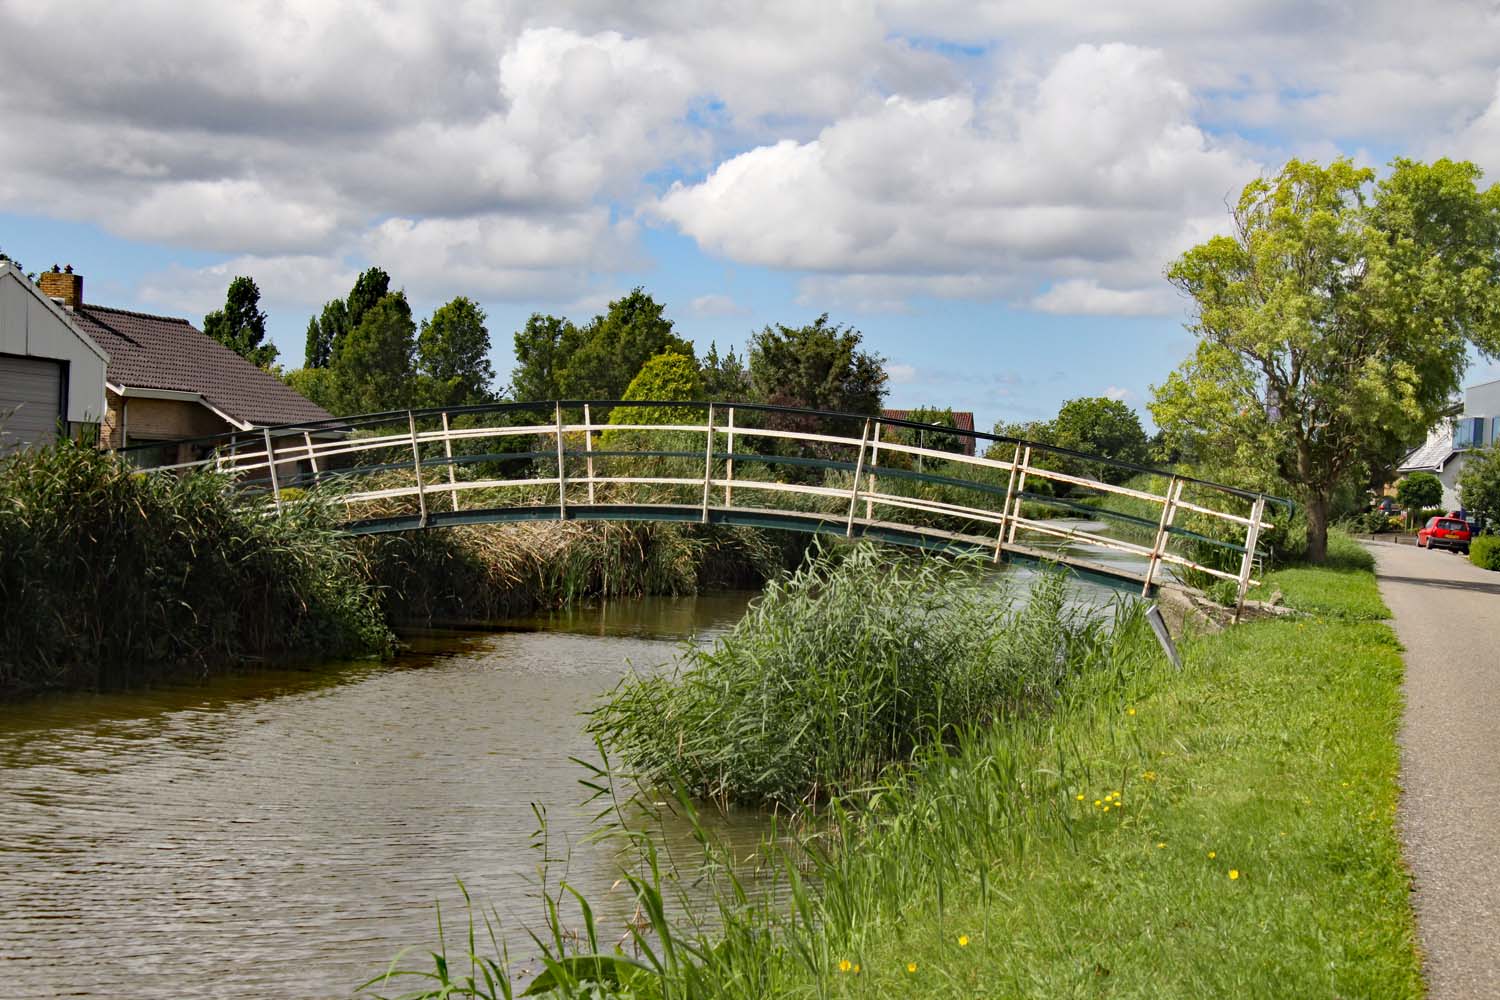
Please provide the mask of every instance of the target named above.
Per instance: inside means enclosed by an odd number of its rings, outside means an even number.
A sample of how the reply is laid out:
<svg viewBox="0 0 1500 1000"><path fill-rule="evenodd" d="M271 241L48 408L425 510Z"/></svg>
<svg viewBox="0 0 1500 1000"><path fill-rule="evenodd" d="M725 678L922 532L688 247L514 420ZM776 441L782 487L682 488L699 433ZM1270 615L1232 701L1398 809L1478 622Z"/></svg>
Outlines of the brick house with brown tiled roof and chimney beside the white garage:
<svg viewBox="0 0 1500 1000"><path fill-rule="evenodd" d="M99 408L106 448L332 418L186 319L86 303L84 279L72 268L45 271L38 286L108 357ZM291 436L302 442L300 432ZM183 445L171 454L132 454L171 463L192 462L206 451Z"/></svg>

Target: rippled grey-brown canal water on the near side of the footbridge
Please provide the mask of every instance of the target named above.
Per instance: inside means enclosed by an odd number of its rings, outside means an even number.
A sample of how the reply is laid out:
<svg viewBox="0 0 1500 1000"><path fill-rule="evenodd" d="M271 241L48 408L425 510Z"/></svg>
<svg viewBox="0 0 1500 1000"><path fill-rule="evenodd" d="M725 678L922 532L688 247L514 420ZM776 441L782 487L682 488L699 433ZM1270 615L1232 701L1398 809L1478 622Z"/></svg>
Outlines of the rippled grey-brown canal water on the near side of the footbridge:
<svg viewBox="0 0 1500 1000"><path fill-rule="evenodd" d="M548 805L554 853L588 828L579 711L746 600L420 636L380 666L0 705L0 997L346 997L435 943L432 903L456 916L454 877L534 924L531 804ZM570 879L624 916L608 850L572 855Z"/></svg>

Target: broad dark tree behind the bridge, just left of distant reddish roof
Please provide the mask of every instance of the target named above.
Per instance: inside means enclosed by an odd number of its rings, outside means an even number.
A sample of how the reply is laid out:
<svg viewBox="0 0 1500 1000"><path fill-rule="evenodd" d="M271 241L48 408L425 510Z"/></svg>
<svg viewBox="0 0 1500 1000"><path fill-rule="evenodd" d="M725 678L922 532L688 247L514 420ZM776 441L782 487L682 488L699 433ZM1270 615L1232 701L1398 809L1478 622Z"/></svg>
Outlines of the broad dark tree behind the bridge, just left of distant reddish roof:
<svg viewBox="0 0 1500 1000"><path fill-rule="evenodd" d="M777 406L878 415L885 402L885 358L860 346L854 327L828 322L777 324L750 337L750 382Z"/></svg>

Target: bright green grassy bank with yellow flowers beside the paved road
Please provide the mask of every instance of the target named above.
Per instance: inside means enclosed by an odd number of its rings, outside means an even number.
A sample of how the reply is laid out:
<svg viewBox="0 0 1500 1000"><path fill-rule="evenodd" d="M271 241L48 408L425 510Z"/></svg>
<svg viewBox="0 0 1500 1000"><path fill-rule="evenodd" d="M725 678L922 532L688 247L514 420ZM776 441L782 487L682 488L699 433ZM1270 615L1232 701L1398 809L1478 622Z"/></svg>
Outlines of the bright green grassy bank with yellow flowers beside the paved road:
<svg viewBox="0 0 1500 1000"><path fill-rule="evenodd" d="M778 886L741 883L710 843L717 904L682 895L675 909L678 877L639 835L640 919L618 954L554 885L548 957L520 985L471 937L424 981L368 988L1419 997L1394 823L1400 646L1370 570L1334 562L1272 573L1293 606L1322 603L1186 636L1180 672L1126 624L1108 658L1060 676L1046 711L921 741L825 802L795 847L765 847L759 874ZM765 691L783 709L798 697ZM716 732L726 750L741 739Z"/></svg>

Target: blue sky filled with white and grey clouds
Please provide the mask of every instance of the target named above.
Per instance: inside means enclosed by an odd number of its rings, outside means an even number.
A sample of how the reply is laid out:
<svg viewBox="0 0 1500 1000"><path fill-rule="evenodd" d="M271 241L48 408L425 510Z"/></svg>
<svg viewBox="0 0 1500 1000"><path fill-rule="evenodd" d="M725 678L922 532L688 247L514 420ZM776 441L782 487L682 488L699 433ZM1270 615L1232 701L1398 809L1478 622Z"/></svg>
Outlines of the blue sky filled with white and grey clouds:
<svg viewBox="0 0 1500 1000"><path fill-rule="evenodd" d="M1288 156L1500 180L1488 1L0 0L0 249L92 301L250 274L296 364L380 264L508 373L644 285L702 348L828 312L981 424L1140 406L1191 349L1162 267Z"/></svg>

